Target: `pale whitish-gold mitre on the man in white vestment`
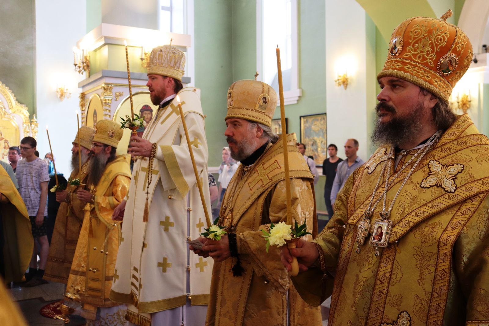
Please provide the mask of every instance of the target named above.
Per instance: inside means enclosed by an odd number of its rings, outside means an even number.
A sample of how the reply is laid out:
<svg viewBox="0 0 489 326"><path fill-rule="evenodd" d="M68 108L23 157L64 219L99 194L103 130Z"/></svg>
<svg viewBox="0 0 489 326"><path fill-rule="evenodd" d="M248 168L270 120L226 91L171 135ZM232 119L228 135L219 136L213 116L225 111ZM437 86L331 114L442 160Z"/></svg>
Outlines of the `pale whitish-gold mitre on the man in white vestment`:
<svg viewBox="0 0 489 326"><path fill-rule="evenodd" d="M157 46L151 51L148 75L156 74L182 81L185 54L175 46Z"/></svg>

